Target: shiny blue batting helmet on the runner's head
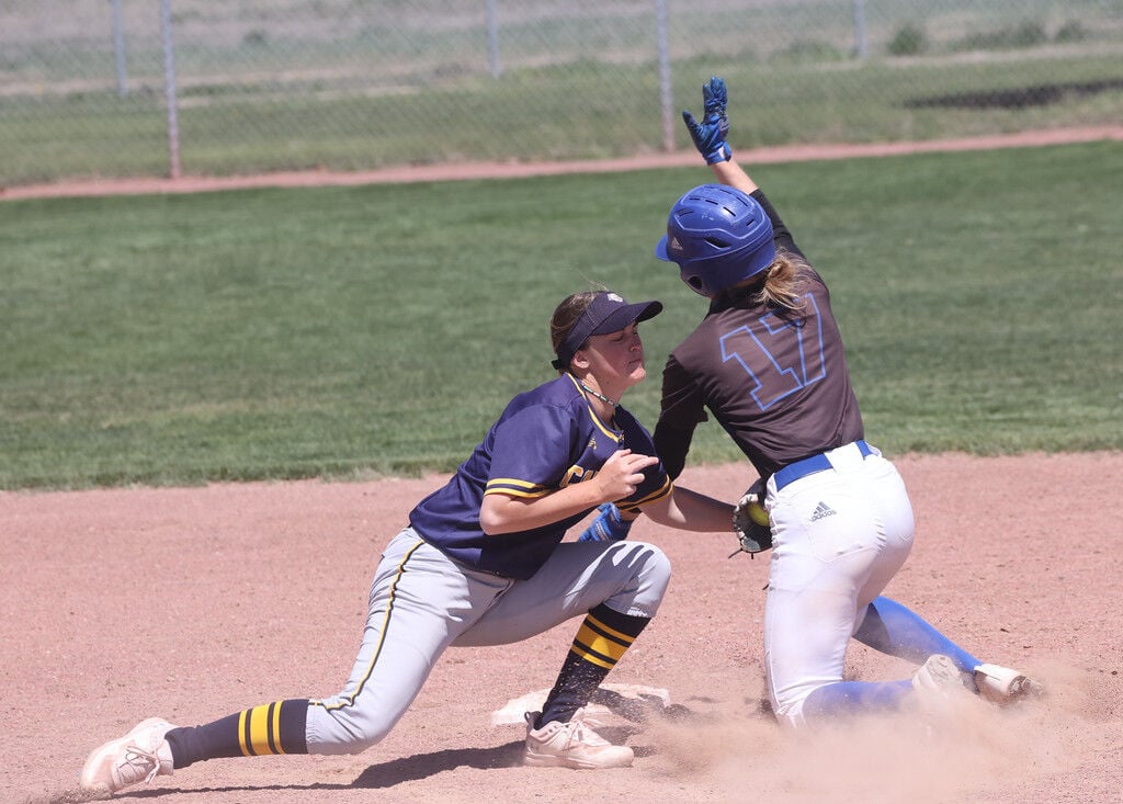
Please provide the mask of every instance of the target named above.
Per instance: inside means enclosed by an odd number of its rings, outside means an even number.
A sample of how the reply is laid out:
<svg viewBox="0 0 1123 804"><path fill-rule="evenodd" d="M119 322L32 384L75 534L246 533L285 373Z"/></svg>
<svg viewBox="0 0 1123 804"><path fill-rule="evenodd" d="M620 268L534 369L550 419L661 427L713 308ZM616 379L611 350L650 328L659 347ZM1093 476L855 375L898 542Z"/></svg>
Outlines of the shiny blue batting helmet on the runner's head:
<svg viewBox="0 0 1123 804"><path fill-rule="evenodd" d="M677 263L695 293L713 296L772 265L772 220L740 190L703 184L675 201L655 256Z"/></svg>

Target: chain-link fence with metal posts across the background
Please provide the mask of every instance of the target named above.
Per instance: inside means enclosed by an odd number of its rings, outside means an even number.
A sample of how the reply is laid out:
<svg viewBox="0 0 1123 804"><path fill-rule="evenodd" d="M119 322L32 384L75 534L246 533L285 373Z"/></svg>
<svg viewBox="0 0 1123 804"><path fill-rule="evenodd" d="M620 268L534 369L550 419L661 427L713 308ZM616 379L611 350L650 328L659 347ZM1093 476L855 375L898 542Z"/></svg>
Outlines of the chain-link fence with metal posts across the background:
<svg viewBox="0 0 1123 804"><path fill-rule="evenodd" d="M1123 0L2 0L0 182L1123 120Z"/></svg>

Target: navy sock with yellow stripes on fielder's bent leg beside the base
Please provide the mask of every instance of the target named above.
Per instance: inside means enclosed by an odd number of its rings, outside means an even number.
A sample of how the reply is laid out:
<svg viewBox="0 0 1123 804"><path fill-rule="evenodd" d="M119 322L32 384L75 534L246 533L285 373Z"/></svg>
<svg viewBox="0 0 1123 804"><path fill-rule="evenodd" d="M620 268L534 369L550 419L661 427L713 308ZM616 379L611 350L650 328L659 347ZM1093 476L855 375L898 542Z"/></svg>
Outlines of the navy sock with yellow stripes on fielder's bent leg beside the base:
<svg viewBox="0 0 1123 804"><path fill-rule="evenodd" d="M535 728L555 720L568 723L650 621L646 616L621 614L603 603L588 612Z"/></svg>

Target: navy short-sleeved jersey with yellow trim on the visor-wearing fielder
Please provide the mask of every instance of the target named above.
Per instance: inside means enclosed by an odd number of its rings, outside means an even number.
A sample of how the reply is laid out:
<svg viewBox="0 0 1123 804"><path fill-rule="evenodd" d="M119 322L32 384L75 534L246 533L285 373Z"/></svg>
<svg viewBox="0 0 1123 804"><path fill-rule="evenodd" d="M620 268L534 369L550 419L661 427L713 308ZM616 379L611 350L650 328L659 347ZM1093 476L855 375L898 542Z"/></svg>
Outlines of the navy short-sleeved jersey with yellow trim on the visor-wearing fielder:
<svg viewBox="0 0 1123 804"><path fill-rule="evenodd" d="M448 483L418 503L410 524L462 564L529 578L566 530L593 509L542 528L487 536L480 528L484 495L546 496L592 478L618 449L655 455L650 433L631 413L617 408L614 424L600 420L568 374L519 394ZM670 479L660 463L645 469L643 482L631 496L615 502L631 509L669 492Z"/></svg>

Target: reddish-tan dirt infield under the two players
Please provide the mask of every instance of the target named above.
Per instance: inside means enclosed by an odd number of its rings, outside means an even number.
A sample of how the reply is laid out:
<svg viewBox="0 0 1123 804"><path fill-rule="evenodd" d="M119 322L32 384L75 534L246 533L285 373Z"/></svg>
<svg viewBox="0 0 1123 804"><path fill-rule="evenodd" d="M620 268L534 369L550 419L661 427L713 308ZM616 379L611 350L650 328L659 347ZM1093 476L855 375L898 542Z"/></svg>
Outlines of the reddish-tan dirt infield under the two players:
<svg viewBox="0 0 1123 804"><path fill-rule="evenodd" d="M212 760L121 798L167 802L1117 802L1123 787L1123 454L898 458L919 521L897 597L1051 695L923 725L882 718L815 736L760 714L768 561L731 536L641 520L675 576L610 680L667 689L690 724L620 721L632 768L523 768L521 730L491 725L549 686L577 623L510 648L454 649L398 729L348 757ZM442 477L201 488L0 493L0 801L72 802L86 752L162 715L207 722L336 692L369 576ZM741 466L683 484L730 499ZM853 678L911 668L860 646ZM590 793L595 785L596 794Z"/></svg>

